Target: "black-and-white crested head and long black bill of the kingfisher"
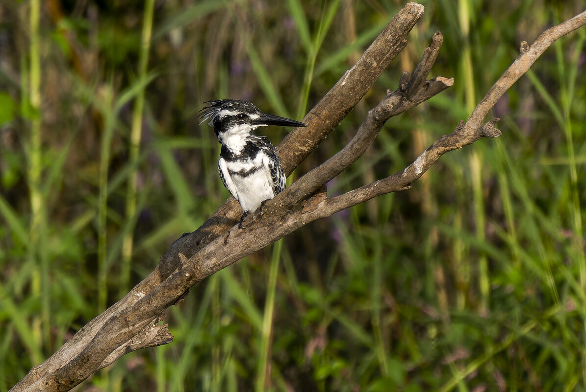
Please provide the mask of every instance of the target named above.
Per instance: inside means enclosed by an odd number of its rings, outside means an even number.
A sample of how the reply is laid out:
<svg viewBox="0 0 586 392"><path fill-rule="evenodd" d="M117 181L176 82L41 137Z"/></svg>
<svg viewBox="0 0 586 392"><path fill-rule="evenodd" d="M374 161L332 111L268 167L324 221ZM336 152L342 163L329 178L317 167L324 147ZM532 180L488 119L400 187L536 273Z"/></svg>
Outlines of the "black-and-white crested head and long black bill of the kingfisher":
<svg viewBox="0 0 586 392"><path fill-rule="evenodd" d="M259 126L306 126L299 121L266 114L250 102L237 99L219 99L204 104L206 106L199 112L199 117L214 127L220 143L228 137L246 137Z"/></svg>

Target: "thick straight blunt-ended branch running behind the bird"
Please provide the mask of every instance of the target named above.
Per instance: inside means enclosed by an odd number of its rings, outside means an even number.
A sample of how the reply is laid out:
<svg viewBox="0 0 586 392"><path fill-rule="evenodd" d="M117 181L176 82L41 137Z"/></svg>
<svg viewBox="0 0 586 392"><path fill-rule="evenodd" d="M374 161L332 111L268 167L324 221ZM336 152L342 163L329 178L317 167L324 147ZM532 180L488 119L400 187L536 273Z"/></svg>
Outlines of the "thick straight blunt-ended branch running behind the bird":
<svg viewBox="0 0 586 392"><path fill-rule="evenodd" d="M287 162L285 172L290 174L294 167L305 159L311 151L325 138L329 132L341 121L364 94L372 87L374 82L383 73L390 61L406 45L406 37L415 23L423 15L423 5L409 3L397 13L389 25L379 34L370 47L364 52L363 56L357 63L346 71L334 87L325 95L325 97L315 106L312 111L305 116L306 128L294 129L289 136L279 145L280 157L283 162ZM311 121L309 121L311 120ZM289 152L290 151L290 152ZM289 165L289 162L292 164ZM180 266L179 254L188 256L194 255L201 247L211 242L217 236L226 232L239 219L240 207L234 198L230 197L217 211L208 219L199 229L188 235L182 236L170 247L165 256L161 257L161 262L156 269L149 274L141 283L137 284L130 293L125 295L120 301L116 302L110 308L105 310L98 317L94 318L73 338L67 341L56 353L49 359L38 366L33 367L30 372L16 386L13 391L25 390L26 387L35 385L46 388L44 390L67 390L66 385L74 386L83 380L89 374L78 377L78 380L69 380L63 385L50 387L45 384L43 378L65 366L72 358L86 348L96 336L97 332L103 328L111 318L117 315L121 310L131 307L137 298L144 297L154 287L159 286L169 275ZM151 318L154 319L155 316ZM143 322L142 328L148 324ZM137 327L138 328L138 327ZM141 329L142 329L141 328ZM136 328L135 328L136 329ZM133 331L135 330L133 329ZM139 334L137 330L132 335L127 331L127 341ZM104 357L105 359L105 357ZM50 383L53 385L52 383ZM31 389L35 390L35 388Z"/></svg>

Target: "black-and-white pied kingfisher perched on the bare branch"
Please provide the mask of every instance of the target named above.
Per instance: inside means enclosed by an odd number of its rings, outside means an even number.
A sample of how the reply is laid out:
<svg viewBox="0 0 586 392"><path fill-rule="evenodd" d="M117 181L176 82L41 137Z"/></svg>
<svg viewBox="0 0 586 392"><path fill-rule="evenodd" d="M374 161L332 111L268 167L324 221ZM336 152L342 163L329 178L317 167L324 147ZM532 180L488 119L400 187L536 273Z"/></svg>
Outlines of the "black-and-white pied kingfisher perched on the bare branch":
<svg viewBox="0 0 586 392"><path fill-rule="evenodd" d="M288 118L266 114L257 106L236 99L207 101L199 113L214 127L222 143L218 169L224 187L239 201L243 220L260 205L285 189L285 173L277 149L266 136L253 135L259 126L306 126Z"/></svg>

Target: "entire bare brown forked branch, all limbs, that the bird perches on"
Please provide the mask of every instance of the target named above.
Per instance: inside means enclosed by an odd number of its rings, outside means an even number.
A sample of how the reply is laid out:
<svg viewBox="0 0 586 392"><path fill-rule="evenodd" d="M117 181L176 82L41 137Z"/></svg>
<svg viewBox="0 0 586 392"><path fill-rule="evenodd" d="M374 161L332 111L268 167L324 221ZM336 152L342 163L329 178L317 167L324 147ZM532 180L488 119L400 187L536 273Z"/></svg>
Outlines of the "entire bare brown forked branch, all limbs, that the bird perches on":
<svg viewBox="0 0 586 392"><path fill-rule="evenodd" d="M410 3L393 19L363 54L280 145L285 170L290 173L369 90L390 60L403 49L408 31L423 14L423 6ZM500 97L523 75L556 39L586 24L586 12L546 30L533 44L522 44L520 56L482 99L466 123L442 136L406 169L356 190L328 198L325 183L360 157L384 123L453 84L452 79L426 80L437 59L442 37L436 33L430 47L408 80L403 74L396 91L387 92L369 111L355 137L338 154L310 171L253 214L246 230L234 226L239 210L229 200L196 232L173 243L161 263L122 300L76 333L52 357L33 367L11 391L66 391L101 367L127 352L168 343L172 335L158 326L161 313L182 297L189 287L316 219L369 200L377 195L405 190L442 154L469 145L482 137L497 137L498 119L482 124ZM299 207L299 208L297 208Z"/></svg>

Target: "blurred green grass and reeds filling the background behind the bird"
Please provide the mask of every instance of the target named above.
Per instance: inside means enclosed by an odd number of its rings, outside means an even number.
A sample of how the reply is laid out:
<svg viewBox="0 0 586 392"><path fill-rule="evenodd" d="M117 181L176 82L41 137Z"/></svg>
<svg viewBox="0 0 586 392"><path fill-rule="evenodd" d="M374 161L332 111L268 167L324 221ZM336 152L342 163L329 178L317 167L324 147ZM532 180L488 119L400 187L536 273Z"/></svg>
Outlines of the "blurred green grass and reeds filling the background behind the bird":
<svg viewBox="0 0 586 392"><path fill-rule="evenodd" d="M403 169L468 118L521 40L583 6L423 4L406 50L289 180L349 140L435 30L433 76L454 87L392 119L330 194ZM2 2L0 391L226 199L203 101L301 119L402 5ZM78 390L586 390L585 39L561 39L501 99L499 139L212 276L167 312L171 345Z"/></svg>

